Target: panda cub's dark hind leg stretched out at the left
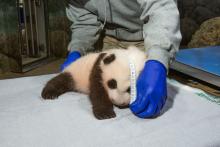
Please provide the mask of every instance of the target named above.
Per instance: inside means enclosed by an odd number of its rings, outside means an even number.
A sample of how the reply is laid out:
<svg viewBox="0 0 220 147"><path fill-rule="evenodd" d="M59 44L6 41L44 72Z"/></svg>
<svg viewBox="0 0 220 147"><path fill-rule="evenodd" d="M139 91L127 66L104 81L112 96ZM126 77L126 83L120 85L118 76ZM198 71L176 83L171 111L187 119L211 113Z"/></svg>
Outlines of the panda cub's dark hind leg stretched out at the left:
<svg viewBox="0 0 220 147"><path fill-rule="evenodd" d="M42 90L41 96L44 99L55 99L61 94L73 91L74 82L69 73L61 73L47 82Z"/></svg>

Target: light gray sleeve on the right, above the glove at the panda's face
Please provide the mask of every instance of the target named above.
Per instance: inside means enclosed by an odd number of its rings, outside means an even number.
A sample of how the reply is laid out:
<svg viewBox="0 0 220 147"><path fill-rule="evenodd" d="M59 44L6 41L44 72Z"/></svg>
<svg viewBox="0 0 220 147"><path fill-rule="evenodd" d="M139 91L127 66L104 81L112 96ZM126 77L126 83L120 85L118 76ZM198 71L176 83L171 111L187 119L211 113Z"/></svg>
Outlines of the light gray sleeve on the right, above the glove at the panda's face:
<svg viewBox="0 0 220 147"><path fill-rule="evenodd" d="M179 11L175 0L138 0L141 5L143 36L149 60L169 67L181 41Z"/></svg>

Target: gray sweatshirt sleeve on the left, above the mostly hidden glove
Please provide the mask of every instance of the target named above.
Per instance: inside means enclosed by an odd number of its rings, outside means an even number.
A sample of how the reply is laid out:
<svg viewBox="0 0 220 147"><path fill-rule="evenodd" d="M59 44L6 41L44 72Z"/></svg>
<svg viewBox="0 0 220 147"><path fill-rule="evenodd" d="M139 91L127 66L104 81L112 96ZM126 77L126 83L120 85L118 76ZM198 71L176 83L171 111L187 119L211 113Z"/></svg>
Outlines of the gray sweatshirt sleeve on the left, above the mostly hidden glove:
<svg viewBox="0 0 220 147"><path fill-rule="evenodd" d="M101 22L97 16L84 8L69 5L66 15L73 22L72 37L68 45L69 51L80 51L82 54L94 49L100 36Z"/></svg>

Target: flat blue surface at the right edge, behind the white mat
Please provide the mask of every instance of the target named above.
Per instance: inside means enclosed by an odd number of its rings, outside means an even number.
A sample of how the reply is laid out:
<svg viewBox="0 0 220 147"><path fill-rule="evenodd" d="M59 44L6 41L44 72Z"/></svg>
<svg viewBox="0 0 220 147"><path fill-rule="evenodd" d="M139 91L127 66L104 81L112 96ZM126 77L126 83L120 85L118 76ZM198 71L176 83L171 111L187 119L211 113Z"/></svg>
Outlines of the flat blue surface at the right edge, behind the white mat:
<svg viewBox="0 0 220 147"><path fill-rule="evenodd" d="M220 46L180 50L176 61L220 76Z"/></svg>

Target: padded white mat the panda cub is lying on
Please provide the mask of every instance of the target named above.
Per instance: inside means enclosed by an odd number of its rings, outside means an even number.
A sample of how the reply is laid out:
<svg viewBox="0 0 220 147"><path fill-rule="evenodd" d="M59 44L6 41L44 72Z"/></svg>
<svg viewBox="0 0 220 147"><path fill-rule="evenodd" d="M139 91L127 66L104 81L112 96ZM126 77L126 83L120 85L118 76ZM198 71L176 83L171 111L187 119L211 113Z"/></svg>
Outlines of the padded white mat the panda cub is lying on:
<svg viewBox="0 0 220 147"><path fill-rule="evenodd" d="M54 75L0 81L0 147L219 147L220 106L172 84L164 113L140 119L129 109L96 120L88 97L42 100Z"/></svg>

